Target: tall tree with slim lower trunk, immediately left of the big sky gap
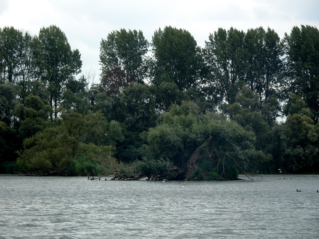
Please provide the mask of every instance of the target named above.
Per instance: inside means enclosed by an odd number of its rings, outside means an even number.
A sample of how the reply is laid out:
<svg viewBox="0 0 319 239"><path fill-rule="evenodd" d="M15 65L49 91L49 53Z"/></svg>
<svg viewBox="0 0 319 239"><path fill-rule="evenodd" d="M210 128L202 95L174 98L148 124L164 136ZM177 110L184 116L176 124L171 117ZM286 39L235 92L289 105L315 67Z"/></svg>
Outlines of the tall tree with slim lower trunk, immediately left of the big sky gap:
<svg viewBox="0 0 319 239"><path fill-rule="evenodd" d="M47 85L56 118L65 84L81 72L81 55L78 49L71 50L65 34L55 25L41 28L39 37L34 38L34 47L37 74Z"/></svg>

